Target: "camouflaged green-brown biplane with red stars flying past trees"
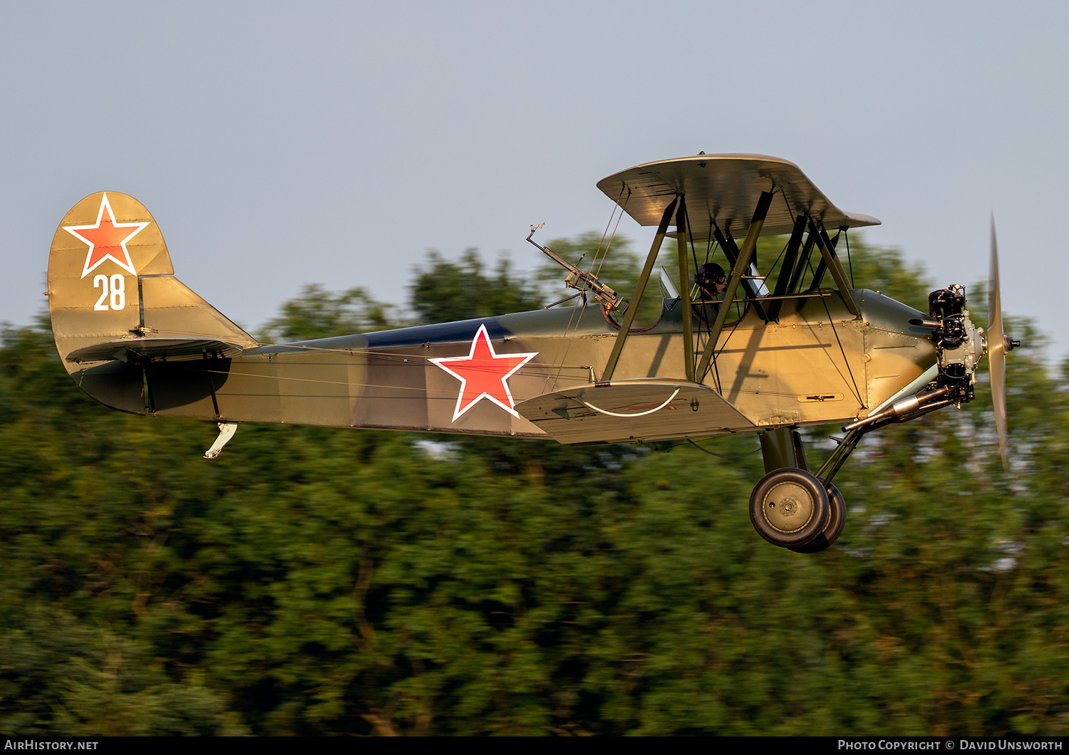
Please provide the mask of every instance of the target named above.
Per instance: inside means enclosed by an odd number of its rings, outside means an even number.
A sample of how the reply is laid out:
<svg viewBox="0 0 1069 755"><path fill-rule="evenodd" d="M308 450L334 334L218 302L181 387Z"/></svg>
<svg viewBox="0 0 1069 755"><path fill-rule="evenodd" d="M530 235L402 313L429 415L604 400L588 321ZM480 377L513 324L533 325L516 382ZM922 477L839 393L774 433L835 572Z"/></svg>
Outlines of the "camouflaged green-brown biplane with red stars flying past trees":
<svg viewBox="0 0 1069 755"><path fill-rule="evenodd" d="M985 334L960 285L932 292L927 313L854 287L838 240L880 221L839 209L787 160L700 154L598 188L614 214L656 227L630 296L538 245L532 226L528 240L567 269L572 305L288 344L258 342L186 287L138 201L94 193L52 239L56 346L75 382L109 407L217 422L208 458L243 422L569 444L756 434L766 474L750 519L765 540L803 553L842 531L832 481L861 438L960 408L985 352L1006 462L1005 352L1017 342L1002 329L993 227ZM785 243L762 274L755 250L765 235ZM665 239L679 277L662 267L651 286ZM696 284L695 272L715 284ZM636 325L650 296L660 316ZM830 423L843 436L810 468L799 430Z"/></svg>

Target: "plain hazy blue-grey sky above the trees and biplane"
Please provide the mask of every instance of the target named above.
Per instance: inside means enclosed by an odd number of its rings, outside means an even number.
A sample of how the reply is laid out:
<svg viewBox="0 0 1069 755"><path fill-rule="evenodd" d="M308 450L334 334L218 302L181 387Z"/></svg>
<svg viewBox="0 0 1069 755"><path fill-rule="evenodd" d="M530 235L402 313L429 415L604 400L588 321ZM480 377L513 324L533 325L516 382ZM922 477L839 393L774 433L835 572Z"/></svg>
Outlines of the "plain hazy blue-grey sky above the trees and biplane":
<svg viewBox="0 0 1069 755"><path fill-rule="evenodd" d="M45 306L94 191L257 330L309 283L402 302L429 249L532 269L531 223L605 227L602 177L748 152L940 286L987 278L993 213L1004 311L1060 360L1067 28L1065 2L3 3L0 320Z"/></svg>

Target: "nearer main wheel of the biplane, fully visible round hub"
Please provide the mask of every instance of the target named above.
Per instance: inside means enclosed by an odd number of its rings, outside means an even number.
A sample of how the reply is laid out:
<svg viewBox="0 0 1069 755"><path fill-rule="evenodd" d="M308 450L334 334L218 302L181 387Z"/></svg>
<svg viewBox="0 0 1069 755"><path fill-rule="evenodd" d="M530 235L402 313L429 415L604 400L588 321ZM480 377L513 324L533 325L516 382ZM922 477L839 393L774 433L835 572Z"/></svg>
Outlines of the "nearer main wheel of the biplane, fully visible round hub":
<svg viewBox="0 0 1069 755"><path fill-rule="evenodd" d="M817 477L801 469L776 469L749 494L749 520L774 546L790 548L823 532L831 506Z"/></svg>

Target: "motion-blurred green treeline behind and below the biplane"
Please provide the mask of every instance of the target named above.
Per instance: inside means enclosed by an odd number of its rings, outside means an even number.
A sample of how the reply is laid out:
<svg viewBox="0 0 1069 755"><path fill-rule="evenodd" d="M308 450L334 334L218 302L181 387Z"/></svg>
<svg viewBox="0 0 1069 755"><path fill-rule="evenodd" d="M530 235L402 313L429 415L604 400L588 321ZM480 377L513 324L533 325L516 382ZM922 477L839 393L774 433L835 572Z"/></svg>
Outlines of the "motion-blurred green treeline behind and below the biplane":
<svg viewBox="0 0 1069 755"><path fill-rule="evenodd" d="M851 251L858 285L926 309L897 251ZM407 317L530 309L556 274L431 256ZM400 313L312 287L264 334ZM1069 377L1009 329L1010 473L980 386L865 439L812 556L754 533L759 454L245 425L207 461L213 424L106 409L47 320L9 329L0 732L1066 734Z"/></svg>

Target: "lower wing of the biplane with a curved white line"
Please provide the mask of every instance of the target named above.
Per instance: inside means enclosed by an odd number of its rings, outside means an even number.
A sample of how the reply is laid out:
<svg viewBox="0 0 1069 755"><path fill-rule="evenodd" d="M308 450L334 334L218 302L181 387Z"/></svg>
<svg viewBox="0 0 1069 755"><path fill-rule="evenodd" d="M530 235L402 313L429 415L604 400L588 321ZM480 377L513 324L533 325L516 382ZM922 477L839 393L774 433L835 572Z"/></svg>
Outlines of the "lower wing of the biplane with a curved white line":
<svg viewBox="0 0 1069 755"><path fill-rule="evenodd" d="M609 380L546 393L516 405L560 443L709 437L754 423L712 389L686 380Z"/></svg>

